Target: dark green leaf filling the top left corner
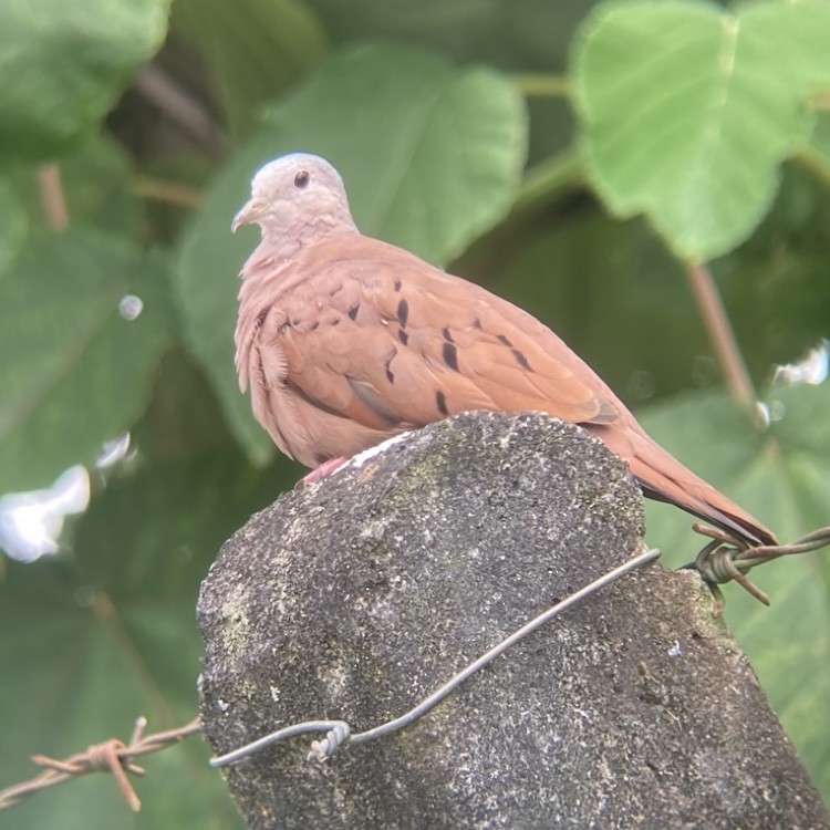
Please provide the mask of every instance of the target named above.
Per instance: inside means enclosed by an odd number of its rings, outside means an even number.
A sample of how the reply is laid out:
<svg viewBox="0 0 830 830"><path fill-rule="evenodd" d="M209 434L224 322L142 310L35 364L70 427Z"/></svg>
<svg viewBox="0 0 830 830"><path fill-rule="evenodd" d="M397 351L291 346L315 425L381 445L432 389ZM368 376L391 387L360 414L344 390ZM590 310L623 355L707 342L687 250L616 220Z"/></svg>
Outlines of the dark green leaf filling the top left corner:
<svg viewBox="0 0 830 830"><path fill-rule="evenodd" d="M169 0L4 0L0 165L43 159L89 134L162 44Z"/></svg>

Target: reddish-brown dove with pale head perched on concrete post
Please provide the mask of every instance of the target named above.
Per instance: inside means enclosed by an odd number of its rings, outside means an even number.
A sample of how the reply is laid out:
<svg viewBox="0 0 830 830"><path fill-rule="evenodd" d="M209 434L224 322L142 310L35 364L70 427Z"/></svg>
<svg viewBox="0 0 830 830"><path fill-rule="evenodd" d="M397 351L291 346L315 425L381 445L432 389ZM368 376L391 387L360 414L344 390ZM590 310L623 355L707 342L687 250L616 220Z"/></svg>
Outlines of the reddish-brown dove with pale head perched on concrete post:
<svg viewBox="0 0 830 830"><path fill-rule="evenodd" d="M363 236L320 156L263 165L231 230L256 224L242 266L236 369L279 449L325 474L396 434L461 412L543 412L623 458L643 494L776 543L760 521L654 442L557 334L484 287Z"/></svg>

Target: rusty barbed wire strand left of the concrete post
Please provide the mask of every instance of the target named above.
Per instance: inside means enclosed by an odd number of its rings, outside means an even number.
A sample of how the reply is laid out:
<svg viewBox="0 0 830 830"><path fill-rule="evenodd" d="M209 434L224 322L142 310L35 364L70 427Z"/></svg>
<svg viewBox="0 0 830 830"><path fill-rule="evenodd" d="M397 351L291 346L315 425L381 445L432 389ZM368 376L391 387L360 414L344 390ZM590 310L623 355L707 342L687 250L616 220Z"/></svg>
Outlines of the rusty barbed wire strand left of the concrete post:
<svg viewBox="0 0 830 830"><path fill-rule="evenodd" d="M139 717L135 722L128 744L124 744L118 738L110 738L101 744L94 744L85 751L76 753L63 760L50 758L45 755L33 755L32 762L46 769L28 781L22 781L21 784L15 784L0 790L0 810L17 807L37 792L42 792L50 787L64 784L79 776L89 775L90 772L112 772L124 800L132 810L137 812L142 808L142 802L127 778L127 772L135 776L143 776L145 770L134 764L134 759L142 755L149 755L151 753L166 749L169 746L180 743L189 735L201 732L201 722L197 717L190 720L189 724L185 724L185 726L157 732L153 735L145 735L144 730L146 728L147 718Z"/></svg>

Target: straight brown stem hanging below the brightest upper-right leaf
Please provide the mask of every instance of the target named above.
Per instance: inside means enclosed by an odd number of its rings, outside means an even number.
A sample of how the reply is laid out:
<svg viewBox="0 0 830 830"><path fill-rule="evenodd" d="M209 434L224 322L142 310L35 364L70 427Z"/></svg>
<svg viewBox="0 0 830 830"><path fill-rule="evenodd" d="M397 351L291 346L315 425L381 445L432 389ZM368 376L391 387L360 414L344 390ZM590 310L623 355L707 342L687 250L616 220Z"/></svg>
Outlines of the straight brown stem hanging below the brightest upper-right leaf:
<svg viewBox="0 0 830 830"><path fill-rule="evenodd" d="M712 271L702 263L687 264L686 277L692 293L697 301L703 322L709 333L712 344L715 347L729 391L748 407L755 407L757 396L753 381L740 354L735 332L729 323L729 318L726 315Z"/></svg>

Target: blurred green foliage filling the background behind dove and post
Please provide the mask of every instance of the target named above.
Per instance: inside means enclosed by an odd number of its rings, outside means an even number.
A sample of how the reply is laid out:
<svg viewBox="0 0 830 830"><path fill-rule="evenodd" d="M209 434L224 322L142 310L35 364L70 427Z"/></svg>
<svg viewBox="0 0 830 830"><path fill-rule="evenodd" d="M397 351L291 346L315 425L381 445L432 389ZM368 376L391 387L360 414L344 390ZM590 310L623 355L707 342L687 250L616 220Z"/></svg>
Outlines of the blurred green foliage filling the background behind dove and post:
<svg viewBox="0 0 830 830"><path fill-rule="evenodd" d="M299 475L232 370L256 235L229 224L287 151L341 169L364 231L548 322L782 538L830 523L829 387L770 383L830 336L828 42L827 0L3 2L0 491L84 464L92 504L59 556L0 558L0 787L196 709L199 581ZM766 429L718 391L684 276L713 257ZM649 507L672 564L688 526ZM830 560L757 581L772 608L729 587L727 620L830 799ZM0 826L240 826L206 755L147 758L137 818L102 778Z"/></svg>

